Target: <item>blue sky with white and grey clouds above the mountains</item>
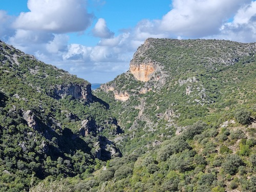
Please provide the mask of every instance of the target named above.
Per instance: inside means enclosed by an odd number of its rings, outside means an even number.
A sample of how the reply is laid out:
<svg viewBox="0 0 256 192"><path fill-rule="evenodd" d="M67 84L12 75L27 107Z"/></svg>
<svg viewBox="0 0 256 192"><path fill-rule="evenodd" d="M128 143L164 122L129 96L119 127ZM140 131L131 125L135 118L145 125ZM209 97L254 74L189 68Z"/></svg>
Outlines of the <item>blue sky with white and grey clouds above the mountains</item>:
<svg viewBox="0 0 256 192"><path fill-rule="evenodd" d="M0 40L91 83L129 70L146 38L256 41L252 0L0 0Z"/></svg>

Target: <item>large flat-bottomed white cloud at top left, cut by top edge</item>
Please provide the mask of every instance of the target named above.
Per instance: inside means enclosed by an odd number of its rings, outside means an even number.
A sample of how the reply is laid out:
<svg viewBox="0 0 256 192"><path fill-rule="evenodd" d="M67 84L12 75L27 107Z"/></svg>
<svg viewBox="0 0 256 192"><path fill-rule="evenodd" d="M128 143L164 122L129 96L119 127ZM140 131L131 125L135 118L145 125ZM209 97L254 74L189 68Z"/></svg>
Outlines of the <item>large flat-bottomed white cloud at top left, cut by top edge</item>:
<svg viewBox="0 0 256 192"><path fill-rule="evenodd" d="M20 13L13 26L54 33L87 29L93 19L83 0L28 0L30 12Z"/></svg>

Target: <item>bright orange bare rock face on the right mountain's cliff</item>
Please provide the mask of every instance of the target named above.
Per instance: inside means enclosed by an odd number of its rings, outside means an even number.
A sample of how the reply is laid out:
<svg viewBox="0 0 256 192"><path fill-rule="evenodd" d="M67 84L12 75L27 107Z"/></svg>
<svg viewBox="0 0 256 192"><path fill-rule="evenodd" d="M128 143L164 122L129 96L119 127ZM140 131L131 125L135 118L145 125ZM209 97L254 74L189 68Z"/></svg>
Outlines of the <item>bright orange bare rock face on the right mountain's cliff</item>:
<svg viewBox="0 0 256 192"><path fill-rule="evenodd" d="M150 75L154 73L155 67L153 63L141 63L140 65L131 65L130 72L139 81L149 81Z"/></svg>

